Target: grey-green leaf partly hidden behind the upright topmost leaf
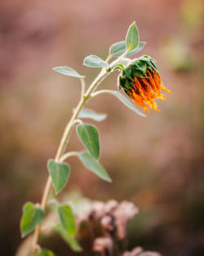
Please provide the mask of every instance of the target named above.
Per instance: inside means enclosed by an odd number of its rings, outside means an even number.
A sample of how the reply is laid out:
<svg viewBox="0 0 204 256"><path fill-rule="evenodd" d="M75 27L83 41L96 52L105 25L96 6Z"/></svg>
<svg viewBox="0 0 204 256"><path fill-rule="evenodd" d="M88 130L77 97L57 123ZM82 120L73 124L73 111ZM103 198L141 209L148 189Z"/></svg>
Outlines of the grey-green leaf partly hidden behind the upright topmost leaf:
<svg viewBox="0 0 204 256"><path fill-rule="evenodd" d="M138 47L136 47L131 52L126 53L126 56L132 56L135 53L140 52L144 48L145 44L146 44L145 42L140 42L138 44ZM124 52L126 52L126 42L125 41L121 41L121 42L118 42L118 43L113 43L112 46L109 49L109 54L113 57L119 57Z"/></svg>

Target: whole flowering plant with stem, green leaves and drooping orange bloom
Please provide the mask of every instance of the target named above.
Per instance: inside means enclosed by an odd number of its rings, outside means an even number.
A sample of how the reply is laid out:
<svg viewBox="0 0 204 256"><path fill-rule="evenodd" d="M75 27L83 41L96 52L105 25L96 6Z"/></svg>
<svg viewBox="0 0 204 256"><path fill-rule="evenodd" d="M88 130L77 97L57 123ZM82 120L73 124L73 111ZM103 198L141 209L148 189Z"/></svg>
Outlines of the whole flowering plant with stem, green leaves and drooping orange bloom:
<svg viewBox="0 0 204 256"><path fill-rule="evenodd" d="M80 79L82 91L78 106L73 110L73 115L64 129L64 134L61 138L55 159L48 160L47 168L49 176L47 178L47 184L42 195L41 203L33 204L28 202L24 204L23 216L20 221L20 231L22 237L28 236L33 232L33 242L29 249L29 255L53 255L51 251L45 251L41 248L39 245L39 235L44 225L43 220L45 219L45 215L49 211L47 208L47 201L52 186L54 187L55 195L57 195L64 189L64 186L69 180L70 166L64 162L65 160L69 159L71 156L77 156L88 170L95 173L95 175L102 178L104 181L111 182L111 177L109 177L109 174L105 171L99 161L99 132L94 125L86 124L82 121L82 119L86 118L100 122L106 118L106 115L96 113L90 109L85 109L84 105L86 102L100 94L110 93L122 101L125 106L134 110L138 115L145 116L144 113L137 109L135 105L132 105L131 101L128 101L127 97L122 95L121 92L113 90L99 90L95 92L95 89L98 88L102 80L109 74L112 74L113 71L119 70L119 90L123 89L124 92L126 92L126 95L131 97L137 106L144 108L144 111L149 111L149 107L153 110L158 110L155 98L166 100L166 97L161 93L161 89L166 92L170 91L162 84L155 61L149 56L142 56L134 60L128 58L128 56L140 52L144 45L145 43L140 42L139 40L138 29L134 22L126 33L125 41L113 43L109 48L109 55L106 61L102 60L99 56L87 56L83 61L84 65L91 68L101 69L100 74L98 74L88 88L86 88L85 76L78 74L78 72L72 68L60 66L53 69L60 74ZM115 58L115 60L111 62L113 58ZM69 151L64 153L70 133L75 124L78 124L76 132L78 133L79 140L82 141L83 146L85 146L86 151ZM72 207L70 204L60 204L58 201L55 201L54 210L58 214L58 222L52 223L55 226L55 230L63 236L64 240L66 240L73 249L80 250L81 246L78 245L78 241L75 239L78 225L76 224ZM135 213L135 209L133 212Z"/></svg>

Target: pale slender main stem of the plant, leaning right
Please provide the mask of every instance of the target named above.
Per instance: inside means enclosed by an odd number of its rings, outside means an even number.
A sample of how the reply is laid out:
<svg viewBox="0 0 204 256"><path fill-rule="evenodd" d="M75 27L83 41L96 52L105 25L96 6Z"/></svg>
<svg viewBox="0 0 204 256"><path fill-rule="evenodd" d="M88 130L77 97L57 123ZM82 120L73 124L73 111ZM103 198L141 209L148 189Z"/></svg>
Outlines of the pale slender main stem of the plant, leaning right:
<svg viewBox="0 0 204 256"><path fill-rule="evenodd" d="M74 110L73 115L72 115L71 119L69 120L69 123L67 124L66 128L64 129L64 133L63 133L63 136L60 141L60 146L58 147L58 150L55 155L56 162L60 161L60 157L64 153L64 149L67 145L67 141L68 141L70 132L72 131L73 124L75 123L75 120L78 118L78 114L79 114L80 110L82 110L82 107L84 106L86 101L91 97L91 92L93 92L93 90L96 88L96 86L101 83L101 81L104 79L104 77L108 73L109 73L108 70L102 69L100 74L91 83L91 86L87 89L86 93L82 93L81 99L78 102L78 106ZM84 80L82 79L81 82L82 82L82 92L84 92L84 87L85 87ZM52 180L51 180L51 176L49 175L49 177L47 178L47 183L46 183L45 189L43 191L43 195L42 195L42 201L41 201L42 209L46 209L47 199L48 199L48 195L50 194L50 191L51 191L51 186L52 186ZM32 249L31 249L31 256L34 256L34 254L36 253L40 231L41 231L41 225L38 225L35 228L35 231L33 234L33 244L32 244Z"/></svg>

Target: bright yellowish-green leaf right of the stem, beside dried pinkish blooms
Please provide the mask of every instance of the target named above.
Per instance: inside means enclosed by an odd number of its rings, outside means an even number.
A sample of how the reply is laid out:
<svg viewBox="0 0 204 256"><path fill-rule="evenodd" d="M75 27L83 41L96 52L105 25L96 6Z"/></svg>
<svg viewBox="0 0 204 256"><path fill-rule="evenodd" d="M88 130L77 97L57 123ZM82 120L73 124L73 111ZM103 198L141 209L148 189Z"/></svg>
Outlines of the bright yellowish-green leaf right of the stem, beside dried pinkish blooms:
<svg viewBox="0 0 204 256"><path fill-rule="evenodd" d="M58 207L58 213L64 230L69 236L75 236L77 233L77 225L71 207L68 204L61 205Z"/></svg>

